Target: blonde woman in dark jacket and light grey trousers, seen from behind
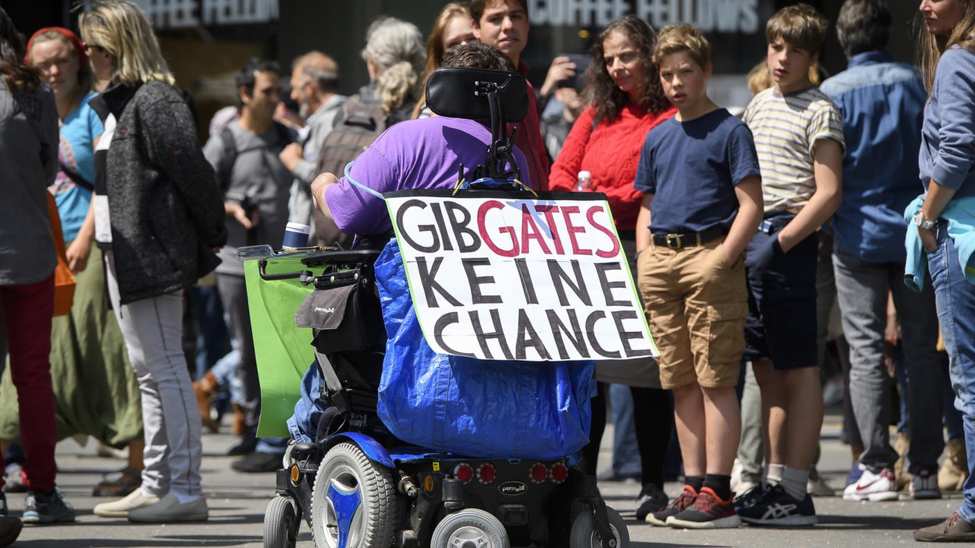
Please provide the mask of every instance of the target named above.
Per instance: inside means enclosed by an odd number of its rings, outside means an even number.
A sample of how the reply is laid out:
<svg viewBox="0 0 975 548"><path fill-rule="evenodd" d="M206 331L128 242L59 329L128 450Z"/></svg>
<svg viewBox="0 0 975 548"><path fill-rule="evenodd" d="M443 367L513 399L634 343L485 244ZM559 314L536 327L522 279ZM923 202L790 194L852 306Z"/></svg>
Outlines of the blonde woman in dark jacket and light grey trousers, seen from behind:
<svg viewBox="0 0 975 548"><path fill-rule="evenodd" d="M104 123L95 152L95 238L108 295L138 378L142 487L96 514L133 522L202 521L200 418L182 352L182 292L214 270L226 242L214 170L145 15L98 0L79 24Z"/></svg>

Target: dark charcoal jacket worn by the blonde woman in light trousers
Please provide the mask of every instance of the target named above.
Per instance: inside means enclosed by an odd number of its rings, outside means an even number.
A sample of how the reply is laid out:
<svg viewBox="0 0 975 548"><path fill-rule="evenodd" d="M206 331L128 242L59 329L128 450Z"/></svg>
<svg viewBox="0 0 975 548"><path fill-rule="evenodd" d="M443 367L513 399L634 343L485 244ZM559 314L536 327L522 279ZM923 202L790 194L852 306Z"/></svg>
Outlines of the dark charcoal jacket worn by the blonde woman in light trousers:
<svg viewBox="0 0 975 548"><path fill-rule="evenodd" d="M149 82L113 86L91 105L117 122L98 179L108 196L121 302L192 286L219 264L213 249L227 232L186 101L173 86Z"/></svg>

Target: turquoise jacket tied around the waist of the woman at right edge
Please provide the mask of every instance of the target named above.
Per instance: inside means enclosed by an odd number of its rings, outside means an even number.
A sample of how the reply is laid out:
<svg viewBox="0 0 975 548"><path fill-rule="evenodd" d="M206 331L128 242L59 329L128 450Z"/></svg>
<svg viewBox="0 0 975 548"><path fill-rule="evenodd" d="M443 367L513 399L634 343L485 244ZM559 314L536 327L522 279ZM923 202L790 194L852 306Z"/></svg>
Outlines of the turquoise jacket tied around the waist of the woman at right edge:
<svg viewBox="0 0 975 548"><path fill-rule="evenodd" d="M917 235L917 226L911 223L912 217L920 210L924 196L918 196L904 211L904 220L909 224L907 239L904 242L908 261L904 266L904 284L916 292L924 286L924 252ZM948 221L948 236L955 241L955 251L965 280L975 285L975 196L956 198L948 203L941 217Z"/></svg>

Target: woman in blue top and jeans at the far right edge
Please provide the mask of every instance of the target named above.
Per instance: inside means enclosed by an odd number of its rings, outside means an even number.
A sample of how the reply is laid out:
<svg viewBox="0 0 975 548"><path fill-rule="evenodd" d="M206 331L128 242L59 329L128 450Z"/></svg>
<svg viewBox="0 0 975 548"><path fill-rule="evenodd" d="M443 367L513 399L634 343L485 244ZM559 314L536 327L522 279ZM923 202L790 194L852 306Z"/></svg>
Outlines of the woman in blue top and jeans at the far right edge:
<svg viewBox="0 0 975 548"><path fill-rule="evenodd" d="M961 506L952 517L918 529L915 539L971 542L975 540L975 0L922 0L919 11L925 32L918 59L928 92L918 162L925 192L905 211L905 217L912 219L905 281L923 284L926 263L948 351L955 407L963 416L968 479Z"/></svg>

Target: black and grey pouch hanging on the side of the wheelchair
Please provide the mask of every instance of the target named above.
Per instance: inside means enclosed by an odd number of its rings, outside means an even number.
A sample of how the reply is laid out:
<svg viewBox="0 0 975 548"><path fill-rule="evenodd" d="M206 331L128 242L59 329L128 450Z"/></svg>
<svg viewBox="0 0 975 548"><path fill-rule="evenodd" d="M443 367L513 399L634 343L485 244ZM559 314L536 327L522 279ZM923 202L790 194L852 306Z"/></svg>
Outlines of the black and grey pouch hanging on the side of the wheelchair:
<svg viewBox="0 0 975 548"><path fill-rule="evenodd" d="M308 295L294 314L299 328L312 328L314 346L323 354L382 349L386 330L373 286L365 279L318 289Z"/></svg>

